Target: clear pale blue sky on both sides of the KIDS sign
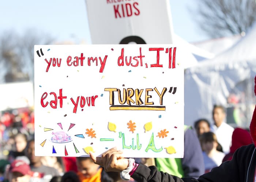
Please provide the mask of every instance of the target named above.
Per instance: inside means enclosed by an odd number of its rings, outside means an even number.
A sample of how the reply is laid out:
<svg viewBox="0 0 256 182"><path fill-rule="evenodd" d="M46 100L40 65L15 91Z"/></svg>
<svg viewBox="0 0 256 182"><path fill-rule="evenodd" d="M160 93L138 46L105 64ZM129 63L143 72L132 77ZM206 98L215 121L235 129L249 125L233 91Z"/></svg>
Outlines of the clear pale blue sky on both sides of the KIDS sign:
<svg viewBox="0 0 256 182"><path fill-rule="evenodd" d="M196 7L197 0L170 0L174 32L188 42L209 39L193 20ZM1 35L33 29L56 41L91 44L85 0L5 0L0 3L0 17Z"/></svg>

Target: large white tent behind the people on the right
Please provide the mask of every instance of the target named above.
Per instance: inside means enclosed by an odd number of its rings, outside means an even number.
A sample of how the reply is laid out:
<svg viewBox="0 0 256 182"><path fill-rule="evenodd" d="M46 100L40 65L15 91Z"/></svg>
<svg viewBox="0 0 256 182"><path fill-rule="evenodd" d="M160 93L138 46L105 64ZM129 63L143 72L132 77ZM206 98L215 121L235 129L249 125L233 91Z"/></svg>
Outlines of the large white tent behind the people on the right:
<svg viewBox="0 0 256 182"><path fill-rule="evenodd" d="M248 127L256 100L256 25L234 46L214 59L188 68L184 75L185 124L199 118L212 120L214 104L221 104L239 116L235 125ZM235 110L237 112L235 112ZM229 113L227 113L229 114Z"/></svg>

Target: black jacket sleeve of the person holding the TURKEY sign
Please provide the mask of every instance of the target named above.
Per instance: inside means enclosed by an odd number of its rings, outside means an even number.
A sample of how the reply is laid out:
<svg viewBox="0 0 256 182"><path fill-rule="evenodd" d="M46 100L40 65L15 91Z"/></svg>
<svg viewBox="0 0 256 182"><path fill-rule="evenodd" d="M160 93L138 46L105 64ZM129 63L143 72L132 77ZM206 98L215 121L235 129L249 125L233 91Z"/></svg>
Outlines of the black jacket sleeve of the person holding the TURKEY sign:
<svg viewBox="0 0 256 182"><path fill-rule="evenodd" d="M159 172L155 166L139 165L132 178L139 182L254 182L256 148L254 144L236 150L231 161L222 163L198 179L178 178Z"/></svg>

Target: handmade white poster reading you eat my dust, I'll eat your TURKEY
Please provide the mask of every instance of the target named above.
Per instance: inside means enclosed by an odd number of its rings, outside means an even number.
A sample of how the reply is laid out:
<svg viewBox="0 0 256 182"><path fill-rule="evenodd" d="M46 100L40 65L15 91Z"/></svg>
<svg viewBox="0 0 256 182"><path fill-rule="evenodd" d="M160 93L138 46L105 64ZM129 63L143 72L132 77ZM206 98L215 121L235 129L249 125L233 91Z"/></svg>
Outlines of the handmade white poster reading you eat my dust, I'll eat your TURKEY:
<svg viewBox="0 0 256 182"><path fill-rule="evenodd" d="M172 44L35 46L35 155L180 158L184 69Z"/></svg>

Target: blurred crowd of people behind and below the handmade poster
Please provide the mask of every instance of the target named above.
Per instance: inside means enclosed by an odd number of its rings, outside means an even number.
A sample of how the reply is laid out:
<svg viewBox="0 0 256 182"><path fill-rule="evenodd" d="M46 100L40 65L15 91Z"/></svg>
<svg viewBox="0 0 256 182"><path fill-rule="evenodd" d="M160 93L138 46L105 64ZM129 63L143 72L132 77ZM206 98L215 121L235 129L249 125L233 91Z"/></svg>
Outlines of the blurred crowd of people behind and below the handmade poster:
<svg viewBox="0 0 256 182"><path fill-rule="evenodd" d="M231 162L225 162L233 161L234 156L238 157L237 149L253 143L249 128L233 128L225 122L224 107L215 105L212 118L212 124L202 118L195 121L194 126L184 126L184 158L155 158L155 166L151 167L144 165L145 158L136 159L133 162L134 170L128 171L134 179L124 179L120 176L120 171L122 168L126 169L128 163L123 158L118 158L121 151L106 151L106 157L114 156L115 162L121 162L121 165L115 165L119 168L109 167L93 155L91 158L38 157L35 156L33 139L33 111L3 113L0 120L0 182L178 181L181 178L186 181L184 177L200 179L202 175L210 179L212 177L207 175L208 172L220 171L216 169L217 166L222 169L230 166ZM114 157L107 161L113 162ZM221 172L219 174L222 175Z"/></svg>

